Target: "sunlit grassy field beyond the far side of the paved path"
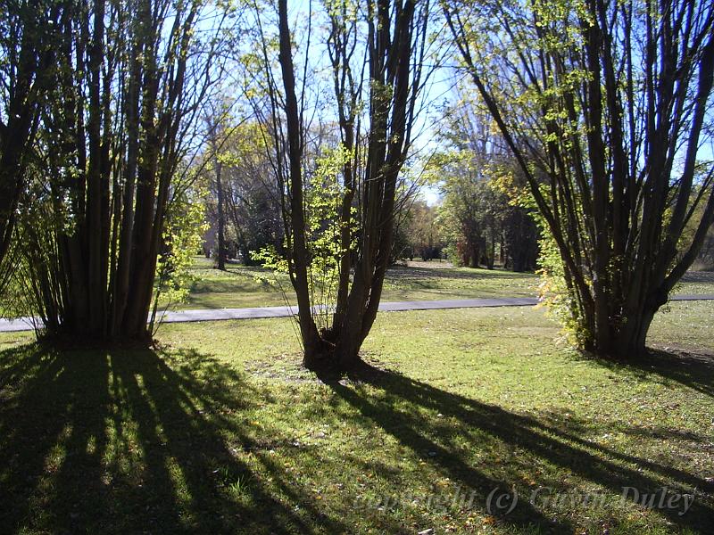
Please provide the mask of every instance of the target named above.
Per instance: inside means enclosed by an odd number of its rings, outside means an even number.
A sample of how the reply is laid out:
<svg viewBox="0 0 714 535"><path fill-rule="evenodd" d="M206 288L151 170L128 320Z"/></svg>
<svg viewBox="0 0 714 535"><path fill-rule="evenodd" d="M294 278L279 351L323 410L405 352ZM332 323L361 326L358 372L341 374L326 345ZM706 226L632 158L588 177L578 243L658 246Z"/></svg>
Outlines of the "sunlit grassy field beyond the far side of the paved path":
<svg viewBox="0 0 714 535"><path fill-rule="evenodd" d="M195 258L197 280L187 303L177 309L228 309L295 304L286 277L279 287L262 282L262 268L229 264L226 271L212 267L212 260ZM452 268L447 262L408 262L387 271L382 300L442 300L485 297L526 297L537 293L538 276L501 269ZM679 293L714 293L714 273L689 273L677 287Z"/></svg>

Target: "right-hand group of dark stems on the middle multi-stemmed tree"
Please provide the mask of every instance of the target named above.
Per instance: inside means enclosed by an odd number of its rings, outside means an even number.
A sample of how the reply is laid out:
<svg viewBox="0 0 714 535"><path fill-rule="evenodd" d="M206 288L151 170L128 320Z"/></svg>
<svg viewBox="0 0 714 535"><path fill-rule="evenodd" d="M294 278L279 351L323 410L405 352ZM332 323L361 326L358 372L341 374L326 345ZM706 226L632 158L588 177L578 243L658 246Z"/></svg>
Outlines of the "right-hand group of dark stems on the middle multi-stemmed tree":
<svg viewBox="0 0 714 535"><path fill-rule="evenodd" d="M419 5L417 5L419 4ZM428 28L428 2L368 2L367 64L369 74L369 133L363 157L345 164L348 177L342 217L343 265L336 312L332 328L325 333L334 357L343 367L358 359L362 342L369 334L379 307L382 287L392 252L397 178L411 145L411 130L419 92L423 88L425 46ZM353 50L351 28L346 13L332 15L332 40L329 45L335 77L339 125L348 151L360 144L360 124L355 120L358 87L351 82L350 57ZM359 173L359 175L358 175ZM358 210L357 254L354 266L349 243L352 237L347 224L352 199L361 194ZM350 268L353 281L349 292ZM308 363L309 364L309 363Z"/></svg>

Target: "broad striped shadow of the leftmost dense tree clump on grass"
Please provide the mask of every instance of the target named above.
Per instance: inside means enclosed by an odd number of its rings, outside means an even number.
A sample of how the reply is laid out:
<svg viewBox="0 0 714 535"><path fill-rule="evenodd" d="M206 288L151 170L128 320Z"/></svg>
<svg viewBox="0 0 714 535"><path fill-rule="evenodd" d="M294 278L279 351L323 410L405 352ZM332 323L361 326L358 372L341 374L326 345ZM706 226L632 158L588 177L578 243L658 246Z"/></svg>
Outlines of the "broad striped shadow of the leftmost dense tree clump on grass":
<svg viewBox="0 0 714 535"><path fill-rule="evenodd" d="M261 396L195 351L0 353L0 532L346 531L238 455Z"/></svg>

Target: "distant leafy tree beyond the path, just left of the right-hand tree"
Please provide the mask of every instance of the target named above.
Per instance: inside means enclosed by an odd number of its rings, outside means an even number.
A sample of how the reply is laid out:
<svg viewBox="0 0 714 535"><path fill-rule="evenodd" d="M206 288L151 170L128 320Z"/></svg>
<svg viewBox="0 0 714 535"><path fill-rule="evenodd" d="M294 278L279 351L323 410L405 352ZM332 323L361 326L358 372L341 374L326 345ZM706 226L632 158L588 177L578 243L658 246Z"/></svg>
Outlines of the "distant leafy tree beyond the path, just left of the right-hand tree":
<svg viewBox="0 0 714 535"><path fill-rule="evenodd" d="M523 181L518 164L494 131L479 99L463 88L444 109L439 137L444 150L432 159L444 196L441 221L452 253L464 266L494 268L496 246L504 268L535 268L538 233L530 210L512 202Z"/></svg>

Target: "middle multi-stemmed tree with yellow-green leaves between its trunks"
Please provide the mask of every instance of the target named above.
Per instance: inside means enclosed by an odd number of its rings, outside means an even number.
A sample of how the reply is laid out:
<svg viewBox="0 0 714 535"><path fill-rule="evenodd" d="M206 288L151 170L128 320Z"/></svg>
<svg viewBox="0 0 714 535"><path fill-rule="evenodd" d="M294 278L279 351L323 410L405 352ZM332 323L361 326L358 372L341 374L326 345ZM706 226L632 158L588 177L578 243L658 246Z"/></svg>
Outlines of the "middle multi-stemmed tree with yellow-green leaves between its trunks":
<svg viewBox="0 0 714 535"><path fill-rule="evenodd" d="M278 1L279 78L271 69L264 34L262 53L303 363L347 369L359 361L377 316L392 251L397 184L426 75L429 4L369 0L363 8L346 1L325 7L339 144L316 160L322 172L306 173L307 66L298 85L285 0ZM310 29L307 36L309 48ZM366 62L360 61L361 53ZM282 81L279 91L276 79ZM332 215L328 206L334 206ZM322 253L315 255L318 249ZM336 285L329 307L333 313L318 325L312 281L316 276L324 280L326 272Z"/></svg>

